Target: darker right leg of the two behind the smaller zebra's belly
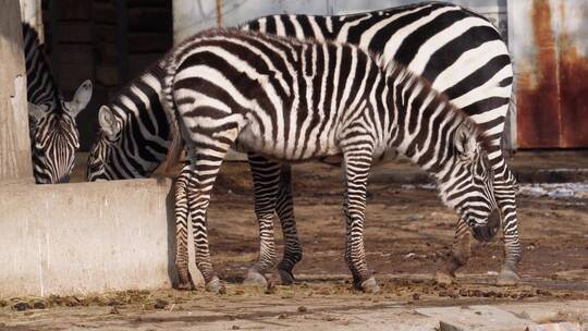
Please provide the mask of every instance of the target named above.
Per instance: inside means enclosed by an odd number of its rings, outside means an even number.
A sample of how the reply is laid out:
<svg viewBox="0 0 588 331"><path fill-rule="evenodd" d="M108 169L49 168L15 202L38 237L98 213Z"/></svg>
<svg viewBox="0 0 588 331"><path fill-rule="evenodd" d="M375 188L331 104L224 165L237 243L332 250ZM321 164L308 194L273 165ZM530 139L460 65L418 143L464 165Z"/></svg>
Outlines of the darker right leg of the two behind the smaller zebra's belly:
<svg viewBox="0 0 588 331"><path fill-rule="evenodd" d="M290 164L282 166L280 188L278 200L275 201L275 212L282 224L282 233L284 236L284 256L278 272L283 285L290 285L294 282L292 269L302 260L303 249L298 233L296 230L296 221L294 220L294 199L292 197L292 168Z"/></svg>

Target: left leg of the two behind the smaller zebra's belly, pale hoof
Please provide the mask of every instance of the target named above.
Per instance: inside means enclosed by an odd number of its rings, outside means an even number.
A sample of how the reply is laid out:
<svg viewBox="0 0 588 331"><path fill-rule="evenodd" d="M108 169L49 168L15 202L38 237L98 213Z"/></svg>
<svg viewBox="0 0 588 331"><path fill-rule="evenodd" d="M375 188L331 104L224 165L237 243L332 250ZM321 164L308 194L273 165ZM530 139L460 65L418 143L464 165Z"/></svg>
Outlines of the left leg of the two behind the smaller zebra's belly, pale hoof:
<svg viewBox="0 0 588 331"><path fill-rule="evenodd" d="M280 184L281 166L261 156L249 154L254 181L255 214L259 224L259 258L243 281L246 285L267 285L266 272L275 265L273 214Z"/></svg>

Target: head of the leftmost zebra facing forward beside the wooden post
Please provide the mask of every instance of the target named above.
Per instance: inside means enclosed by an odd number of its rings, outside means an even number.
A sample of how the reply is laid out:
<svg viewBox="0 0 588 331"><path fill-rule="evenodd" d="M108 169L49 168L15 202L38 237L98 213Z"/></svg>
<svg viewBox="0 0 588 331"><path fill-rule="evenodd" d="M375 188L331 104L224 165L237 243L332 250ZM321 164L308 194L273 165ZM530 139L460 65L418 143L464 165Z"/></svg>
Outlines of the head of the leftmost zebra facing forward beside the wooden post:
<svg viewBox="0 0 588 331"><path fill-rule="evenodd" d="M79 148L75 118L91 98L91 82L84 82L71 101L58 98L44 105L28 103L35 180L39 184L68 183Z"/></svg>

